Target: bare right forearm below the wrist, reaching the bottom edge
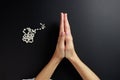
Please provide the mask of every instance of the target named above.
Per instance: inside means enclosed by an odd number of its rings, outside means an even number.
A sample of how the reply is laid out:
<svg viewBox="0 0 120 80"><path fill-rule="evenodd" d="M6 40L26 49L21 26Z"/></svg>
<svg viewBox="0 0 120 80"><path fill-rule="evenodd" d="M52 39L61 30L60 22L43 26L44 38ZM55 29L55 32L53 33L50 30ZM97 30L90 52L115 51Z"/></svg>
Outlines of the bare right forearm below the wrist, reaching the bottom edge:
<svg viewBox="0 0 120 80"><path fill-rule="evenodd" d="M100 80L97 75L79 59L77 55L69 58L69 61L76 68L83 80Z"/></svg>

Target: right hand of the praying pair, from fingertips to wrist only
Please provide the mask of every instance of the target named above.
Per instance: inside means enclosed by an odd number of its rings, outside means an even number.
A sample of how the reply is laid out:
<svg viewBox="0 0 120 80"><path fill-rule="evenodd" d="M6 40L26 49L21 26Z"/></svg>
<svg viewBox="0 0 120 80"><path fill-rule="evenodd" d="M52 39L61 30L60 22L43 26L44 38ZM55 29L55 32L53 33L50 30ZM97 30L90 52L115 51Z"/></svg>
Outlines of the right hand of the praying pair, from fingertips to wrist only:
<svg viewBox="0 0 120 80"><path fill-rule="evenodd" d="M65 57L67 59L70 58L74 58L77 56L75 49L74 49L74 44L73 44L73 37L71 34L71 30L70 30L70 24L68 22L68 18L67 18L67 13L64 14L64 29L65 29Z"/></svg>

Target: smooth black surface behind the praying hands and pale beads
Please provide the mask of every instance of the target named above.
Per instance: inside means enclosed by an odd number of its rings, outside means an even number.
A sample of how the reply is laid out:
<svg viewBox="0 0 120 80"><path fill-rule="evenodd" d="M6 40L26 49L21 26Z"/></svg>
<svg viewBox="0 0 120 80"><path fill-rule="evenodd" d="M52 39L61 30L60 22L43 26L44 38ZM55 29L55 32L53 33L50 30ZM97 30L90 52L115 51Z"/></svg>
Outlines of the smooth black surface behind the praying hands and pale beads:
<svg viewBox="0 0 120 80"><path fill-rule="evenodd" d="M60 12L67 12L78 56L102 80L120 79L119 0L36 0L1 2L0 80L35 77L55 50ZM36 28L34 43L22 41L22 30ZM64 59L54 80L82 80Z"/></svg>

